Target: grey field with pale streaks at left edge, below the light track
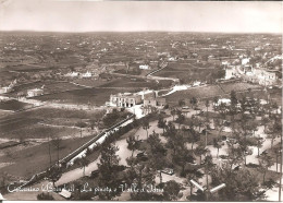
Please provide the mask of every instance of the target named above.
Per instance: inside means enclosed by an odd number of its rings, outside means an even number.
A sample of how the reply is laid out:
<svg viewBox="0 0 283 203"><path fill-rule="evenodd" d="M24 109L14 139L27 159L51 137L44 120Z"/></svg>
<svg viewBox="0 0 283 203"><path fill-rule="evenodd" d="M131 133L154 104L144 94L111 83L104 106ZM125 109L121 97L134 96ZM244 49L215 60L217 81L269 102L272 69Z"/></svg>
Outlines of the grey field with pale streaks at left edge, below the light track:
<svg viewBox="0 0 283 203"><path fill-rule="evenodd" d="M48 136L71 136L79 134L77 122L101 117L100 110L67 110L37 108L10 115L0 119L0 138L26 140L46 139ZM89 130L89 128L87 129Z"/></svg>

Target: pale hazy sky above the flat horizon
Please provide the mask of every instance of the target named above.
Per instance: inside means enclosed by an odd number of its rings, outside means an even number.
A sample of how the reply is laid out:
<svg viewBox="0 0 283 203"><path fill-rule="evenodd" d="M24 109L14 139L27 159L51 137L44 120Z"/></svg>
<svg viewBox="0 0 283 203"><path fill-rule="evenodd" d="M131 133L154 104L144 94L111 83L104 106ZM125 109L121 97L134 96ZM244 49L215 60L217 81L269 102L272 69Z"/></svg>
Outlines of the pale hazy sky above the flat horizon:
<svg viewBox="0 0 283 203"><path fill-rule="evenodd" d="M282 33L282 2L0 0L0 29Z"/></svg>

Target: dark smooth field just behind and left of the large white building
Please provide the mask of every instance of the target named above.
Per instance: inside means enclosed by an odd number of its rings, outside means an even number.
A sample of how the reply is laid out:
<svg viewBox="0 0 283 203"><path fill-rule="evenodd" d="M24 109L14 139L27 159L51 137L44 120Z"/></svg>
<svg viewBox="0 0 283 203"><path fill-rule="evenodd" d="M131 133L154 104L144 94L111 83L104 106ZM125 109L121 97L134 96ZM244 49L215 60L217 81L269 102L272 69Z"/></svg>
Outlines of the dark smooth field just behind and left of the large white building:
<svg viewBox="0 0 283 203"><path fill-rule="evenodd" d="M83 88L64 93L34 97L42 101L59 101L63 104L101 106L109 100L111 94L136 92L140 88Z"/></svg>

